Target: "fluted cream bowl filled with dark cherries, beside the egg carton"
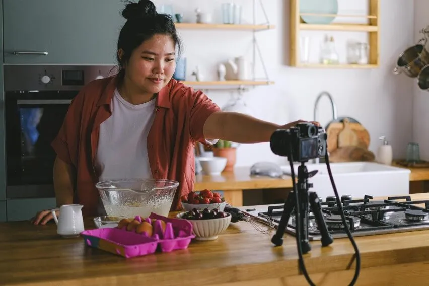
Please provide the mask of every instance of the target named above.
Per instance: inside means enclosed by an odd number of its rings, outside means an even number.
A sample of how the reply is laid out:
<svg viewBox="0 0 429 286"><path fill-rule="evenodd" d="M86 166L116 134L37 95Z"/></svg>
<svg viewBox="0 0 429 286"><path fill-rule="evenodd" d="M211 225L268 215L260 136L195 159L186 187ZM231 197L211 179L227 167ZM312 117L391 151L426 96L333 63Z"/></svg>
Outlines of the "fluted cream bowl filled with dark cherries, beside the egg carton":
<svg viewBox="0 0 429 286"><path fill-rule="evenodd" d="M205 208L202 211L194 208L178 213L176 217L188 220L192 224L195 240L201 241L216 240L231 223L231 214L217 208L211 210Z"/></svg>

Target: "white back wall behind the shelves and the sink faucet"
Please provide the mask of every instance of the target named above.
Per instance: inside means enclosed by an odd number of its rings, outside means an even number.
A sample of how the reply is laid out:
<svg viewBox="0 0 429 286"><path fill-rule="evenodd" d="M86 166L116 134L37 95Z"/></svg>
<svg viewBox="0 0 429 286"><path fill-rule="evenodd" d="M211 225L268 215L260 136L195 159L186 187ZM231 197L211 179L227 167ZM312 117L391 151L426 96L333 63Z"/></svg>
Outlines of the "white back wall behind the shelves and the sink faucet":
<svg viewBox="0 0 429 286"><path fill-rule="evenodd" d="M424 2L422 0L420 2ZM252 21L250 0L237 0L245 4L245 21ZM260 44L270 79L275 85L257 87L245 94L246 103L255 111L255 116L278 124L297 119L312 120L313 106L321 91L334 97L339 115L347 115L361 121L371 135L370 149L376 151L379 136L387 136L393 146L394 157L404 157L405 148L412 137L413 83L404 75L395 76L392 68L399 53L414 41L414 7L410 0L381 0L380 60L377 69L301 69L287 66L289 51L289 1L263 0L270 23L275 30L259 32ZM215 21L221 21L220 7L223 1L188 0L182 4L171 0L158 0L155 4L173 4L175 13L184 14L185 21L195 21L194 9L213 12ZM365 11L367 0L339 0L340 13ZM359 3L356 4L356 3ZM351 11L353 10L353 11ZM362 12L359 11L359 12ZM400 19L400 20L399 20ZM258 22L264 18L258 6ZM207 79L216 79L216 66L227 58L246 54L251 56L250 32L237 31L189 31L180 30L185 43L184 56L188 60L188 75L196 65ZM312 56L317 58L319 39L323 32L315 33L312 39ZM349 38L362 38L356 32L333 32L339 52ZM251 57L249 57L251 59ZM261 65L257 76L263 76ZM223 106L228 92L209 92L208 95ZM319 105L318 121L326 124L331 111L327 99ZM238 149L238 166L249 166L258 161L284 162L284 158L272 154L269 144L242 145Z"/></svg>

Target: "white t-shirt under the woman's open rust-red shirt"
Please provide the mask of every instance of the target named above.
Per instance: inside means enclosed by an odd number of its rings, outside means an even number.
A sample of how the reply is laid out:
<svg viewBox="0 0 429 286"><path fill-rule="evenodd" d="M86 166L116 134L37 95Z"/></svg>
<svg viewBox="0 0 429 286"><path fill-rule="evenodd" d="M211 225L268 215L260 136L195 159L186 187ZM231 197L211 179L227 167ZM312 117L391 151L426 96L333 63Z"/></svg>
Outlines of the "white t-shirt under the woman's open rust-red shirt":
<svg viewBox="0 0 429 286"><path fill-rule="evenodd" d="M100 125L95 162L99 181L152 178L147 139L155 118L155 100L133 105L115 89L112 115Z"/></svg>

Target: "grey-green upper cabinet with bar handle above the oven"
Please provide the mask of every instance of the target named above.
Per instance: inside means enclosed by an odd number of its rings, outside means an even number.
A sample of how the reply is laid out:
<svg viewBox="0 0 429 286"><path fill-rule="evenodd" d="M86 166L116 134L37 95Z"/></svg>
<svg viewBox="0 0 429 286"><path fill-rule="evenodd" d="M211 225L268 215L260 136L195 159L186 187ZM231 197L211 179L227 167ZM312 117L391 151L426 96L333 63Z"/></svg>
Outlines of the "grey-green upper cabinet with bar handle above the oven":
<svg viewBox="0 0 429 286"><path fill-rule="evenodd" d="M121 0L3 0L4 62L114 64L125 4Z"/></svg>

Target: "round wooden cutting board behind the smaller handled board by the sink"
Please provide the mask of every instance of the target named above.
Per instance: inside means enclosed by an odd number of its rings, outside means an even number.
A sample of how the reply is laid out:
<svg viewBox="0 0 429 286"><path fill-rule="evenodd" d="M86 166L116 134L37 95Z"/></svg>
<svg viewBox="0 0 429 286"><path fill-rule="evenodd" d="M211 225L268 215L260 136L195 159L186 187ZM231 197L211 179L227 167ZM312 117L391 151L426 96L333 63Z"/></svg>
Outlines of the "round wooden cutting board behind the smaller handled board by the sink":
<svg viewBox="0 0 429 286"><path fill-rule="evenodd" d="M368 149L370 146L370 134L368 130L365 129L360 123L347 123L348 126L354 131L358 136L358 147ZM326 129L326 134L328 135L328 152L332 152L338 148L338 137L341 131L344 129L344 124L341 122L334 122L329 124Z"/></svg>

